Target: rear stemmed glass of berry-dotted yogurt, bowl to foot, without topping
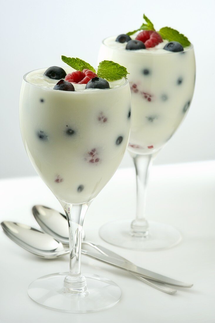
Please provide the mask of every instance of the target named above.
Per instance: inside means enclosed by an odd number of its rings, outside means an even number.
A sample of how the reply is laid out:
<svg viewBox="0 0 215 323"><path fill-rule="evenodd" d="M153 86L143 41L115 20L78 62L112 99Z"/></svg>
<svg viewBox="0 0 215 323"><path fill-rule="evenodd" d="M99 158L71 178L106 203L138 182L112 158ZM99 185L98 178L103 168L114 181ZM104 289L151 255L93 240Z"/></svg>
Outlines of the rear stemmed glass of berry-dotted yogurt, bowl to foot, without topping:
<svg viewBox="0 0 215 323"><path fill-rule="evenodd" d="M110 37L111 38L111 37ZM153 159L187 114L195 85L191 45L181 52L125 50L103 41L99 61L125 66L132 93L132 127L128 151L136 170L136 218L115 220L100 228L106 242L134 250L159 250L177 245L181 234L168 224L146 220L148 172Z"/></svg>

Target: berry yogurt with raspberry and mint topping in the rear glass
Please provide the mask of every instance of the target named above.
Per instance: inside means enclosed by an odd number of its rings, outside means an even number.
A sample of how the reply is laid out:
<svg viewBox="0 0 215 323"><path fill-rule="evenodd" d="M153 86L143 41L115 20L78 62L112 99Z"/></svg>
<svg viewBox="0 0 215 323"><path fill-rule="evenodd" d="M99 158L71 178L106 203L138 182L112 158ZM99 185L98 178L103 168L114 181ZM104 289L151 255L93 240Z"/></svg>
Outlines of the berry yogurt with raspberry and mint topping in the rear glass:
<svg viewBox="0 0 215 323"><path fill-rule="evenodd" d="M137 154L154 153L170 139L188 111L195 83L194 50L187 37L169 27L156 32L145 18L141 27L152 30L108 37L99 52L99 60L118 62L130 73L128 149Z"/></svg>

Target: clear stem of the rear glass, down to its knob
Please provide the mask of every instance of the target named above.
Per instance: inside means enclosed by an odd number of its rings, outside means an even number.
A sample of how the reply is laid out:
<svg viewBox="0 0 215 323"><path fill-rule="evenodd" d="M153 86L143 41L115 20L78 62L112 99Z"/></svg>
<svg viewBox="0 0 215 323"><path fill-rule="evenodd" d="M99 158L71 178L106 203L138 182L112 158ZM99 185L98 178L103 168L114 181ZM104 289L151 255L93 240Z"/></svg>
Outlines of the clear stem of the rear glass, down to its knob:
<svg viewBox="0 0 215 323"><path fill-rule="evenodd" d="M136 237L147 237L149 225L145 219L146 188L154 154L132 154L132 157L136 170L136 219L131 223L130 233Z"/></svg>

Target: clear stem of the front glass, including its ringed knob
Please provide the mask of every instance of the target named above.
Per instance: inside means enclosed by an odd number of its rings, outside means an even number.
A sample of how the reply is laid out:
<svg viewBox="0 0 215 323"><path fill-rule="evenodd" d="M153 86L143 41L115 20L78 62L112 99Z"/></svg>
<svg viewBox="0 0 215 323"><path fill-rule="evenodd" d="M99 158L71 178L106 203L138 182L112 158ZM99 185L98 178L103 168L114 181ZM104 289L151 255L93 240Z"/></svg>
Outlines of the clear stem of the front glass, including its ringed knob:
<svg viewBox="0 0 215 323"><path fill-rule="evenodd" d="M81 234L84 216L91 202L69 204L60 201L69 224L70 271L64 279L67 293L82 294L87 291L86 279L81 275Z"/></svg>

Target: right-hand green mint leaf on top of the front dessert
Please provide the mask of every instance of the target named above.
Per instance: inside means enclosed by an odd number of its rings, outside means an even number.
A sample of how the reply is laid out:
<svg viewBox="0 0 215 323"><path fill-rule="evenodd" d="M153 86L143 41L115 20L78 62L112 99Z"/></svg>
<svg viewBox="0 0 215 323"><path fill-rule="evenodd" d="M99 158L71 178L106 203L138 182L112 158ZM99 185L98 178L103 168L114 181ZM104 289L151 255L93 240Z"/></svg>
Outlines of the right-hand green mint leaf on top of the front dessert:
<svg viewBox="0 0 215 323"><path fill-rule="evenodd" d="M105 78L107 81L116 81L125 78L129 74L124 66L113 61L102 61L99 63L97 75L99 78Z"/></svg>

